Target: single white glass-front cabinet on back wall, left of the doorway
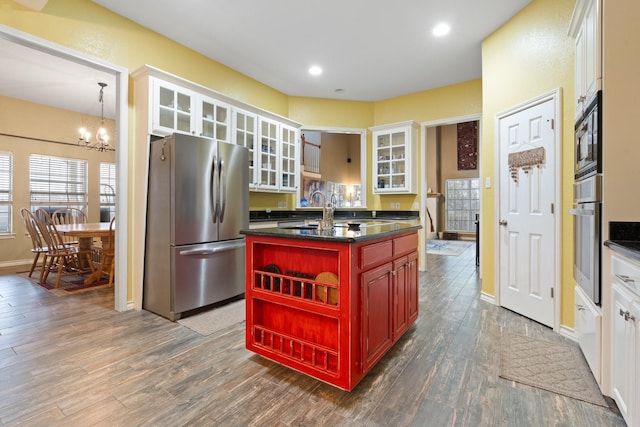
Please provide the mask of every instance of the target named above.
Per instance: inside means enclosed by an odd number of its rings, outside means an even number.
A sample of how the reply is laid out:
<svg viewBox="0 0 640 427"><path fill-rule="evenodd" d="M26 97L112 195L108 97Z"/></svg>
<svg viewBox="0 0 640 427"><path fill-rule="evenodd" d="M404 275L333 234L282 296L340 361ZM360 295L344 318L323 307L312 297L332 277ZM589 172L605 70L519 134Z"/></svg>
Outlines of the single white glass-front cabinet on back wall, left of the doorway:
<svg viewBox="0 0 640 427"><path fill-rule="evenodd" d="M418 124L410 121L370 129L373 132L373 192L415 193Z"/></svg>

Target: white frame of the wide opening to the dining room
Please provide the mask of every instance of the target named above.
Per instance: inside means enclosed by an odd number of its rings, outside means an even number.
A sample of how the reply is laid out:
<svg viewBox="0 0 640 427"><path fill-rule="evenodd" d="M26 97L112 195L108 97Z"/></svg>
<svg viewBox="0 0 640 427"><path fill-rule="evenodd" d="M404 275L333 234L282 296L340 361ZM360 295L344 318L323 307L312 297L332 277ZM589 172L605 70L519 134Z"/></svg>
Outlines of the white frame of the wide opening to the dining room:
<svg viewBox="0 0 640 427"><path fill-rule="evenodd" d="M128 293L128 200L129 200L129 71L98 58L85 55L76 50L55 44L45 39L0 24L0 38L9 42L34 49L52 56L65 59L89 68L113 74L116 78L116 216L118 217L118 233L116 234L116 271L114 280L114 305L116 311L133 308L127 301Z"/></svg>

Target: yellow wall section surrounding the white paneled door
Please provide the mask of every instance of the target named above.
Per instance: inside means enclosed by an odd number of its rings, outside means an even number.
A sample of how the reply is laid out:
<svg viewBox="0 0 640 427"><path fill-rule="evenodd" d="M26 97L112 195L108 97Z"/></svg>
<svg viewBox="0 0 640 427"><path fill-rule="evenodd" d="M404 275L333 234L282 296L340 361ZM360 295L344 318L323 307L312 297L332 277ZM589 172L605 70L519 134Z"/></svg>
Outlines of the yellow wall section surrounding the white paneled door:
<svg viewBox="0 0 640 427"><path fill-rule="evenodd" d="M481 179L496 178L496 114L542 93L562 88L562 215L560 323L573 327L573 220L568 209L573 202L573 74L574 40L567 35L575 0L534 0L482 43L482 151ZM482 254L495 254L496 195L482 190L480 235ZM493 256L481 257L482 290L495 295L497 283Z"/></svg>

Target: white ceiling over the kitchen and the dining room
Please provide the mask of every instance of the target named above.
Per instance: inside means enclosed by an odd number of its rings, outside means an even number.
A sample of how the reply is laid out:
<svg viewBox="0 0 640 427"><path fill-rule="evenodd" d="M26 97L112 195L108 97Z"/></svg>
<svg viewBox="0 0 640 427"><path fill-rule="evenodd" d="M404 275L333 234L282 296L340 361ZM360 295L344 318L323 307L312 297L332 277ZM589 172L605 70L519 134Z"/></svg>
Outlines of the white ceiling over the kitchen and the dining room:
<svg viewBox="0 0 640 427"><path fill-rule="evenodd" d="M287 95L359 101L480 78L482 40L531 2L92 1ZM435 38L441 21L451 32ZM104 81L114 117L112 75L1 39L0 60L0 95L98 115Z"/></svg>

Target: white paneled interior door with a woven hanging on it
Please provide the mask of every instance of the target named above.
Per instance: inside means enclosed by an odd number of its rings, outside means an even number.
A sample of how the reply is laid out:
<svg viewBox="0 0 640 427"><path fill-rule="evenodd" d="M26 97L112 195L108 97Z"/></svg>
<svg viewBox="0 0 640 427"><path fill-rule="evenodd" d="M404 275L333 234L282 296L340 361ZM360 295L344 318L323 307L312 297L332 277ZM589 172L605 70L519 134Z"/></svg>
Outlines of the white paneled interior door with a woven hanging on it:
<svg viewBox="0 0 640 427"><path fill-rule="evenodd" d="M500 305L554 326L556 131L553 98L498 117Z"/></svg>

